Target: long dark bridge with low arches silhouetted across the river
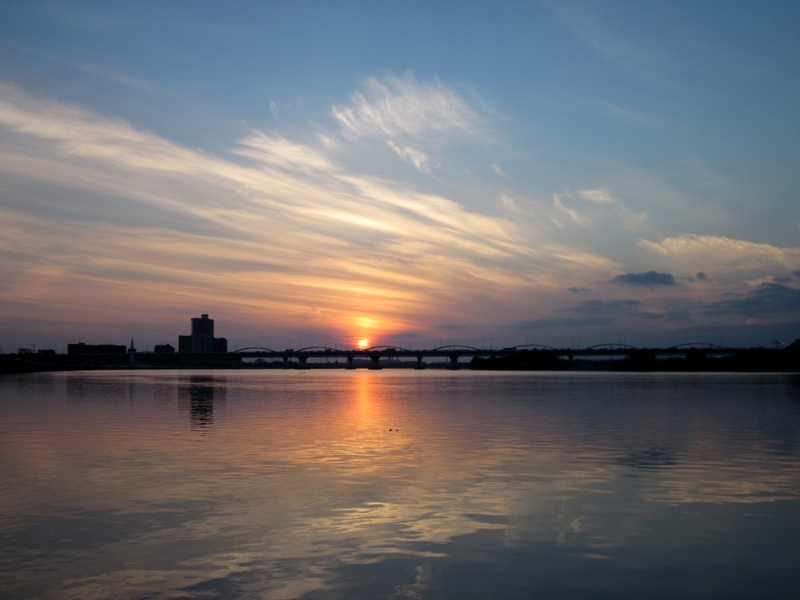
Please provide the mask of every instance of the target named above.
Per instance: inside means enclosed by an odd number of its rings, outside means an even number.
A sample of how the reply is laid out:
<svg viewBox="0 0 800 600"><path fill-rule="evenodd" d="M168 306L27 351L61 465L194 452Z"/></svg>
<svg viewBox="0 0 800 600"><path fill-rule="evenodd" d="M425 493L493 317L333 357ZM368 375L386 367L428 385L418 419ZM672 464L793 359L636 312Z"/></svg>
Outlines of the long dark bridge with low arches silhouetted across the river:
<svg viewBox="0 0 800 600"><path fill-rule="evenodd" d="M463 346L451 344L439 346L437 348L414 350L402 348L400 346L373 346L371 348L342 350L329 348L326 346L309 346L295 350L273 350L262 347L241 348L227 354L228 357L235 356L239 360L245 358L282 360L284 367L289 367L290 361L296 361L296 368L311 368L308 364L309 359L331 359L344 358L345 368L357 368L359 363L366 363L369 369L381 369L381 360L414 359L415 369L424 369L426 358L444 358L447 361L447 368L457 370L464 363L459 363L459 359L466 358L513 358L527 357L533 360L573 360L574 358L620 358L620 359L656 359L662 358L686 358L693 357L719 357L732 356L752 352L752 348L729 348L706 343L687 343L669 348L638 348L627 344L599 344L588 348L554 348L541 344L522 344L501 349L475 348L473 346Z"/></svg>

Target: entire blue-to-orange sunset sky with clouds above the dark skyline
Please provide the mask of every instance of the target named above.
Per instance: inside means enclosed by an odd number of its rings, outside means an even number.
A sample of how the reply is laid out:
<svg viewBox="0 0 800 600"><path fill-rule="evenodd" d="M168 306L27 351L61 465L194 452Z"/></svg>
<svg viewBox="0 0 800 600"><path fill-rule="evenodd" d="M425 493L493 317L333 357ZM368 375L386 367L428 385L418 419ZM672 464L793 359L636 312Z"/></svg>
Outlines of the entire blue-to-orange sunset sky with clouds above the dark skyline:
<svg viewBox="0 0 800 600"><path fill-rule="evenodd" d="M800 338L797 2L3 2L0 351Z"/></svg>

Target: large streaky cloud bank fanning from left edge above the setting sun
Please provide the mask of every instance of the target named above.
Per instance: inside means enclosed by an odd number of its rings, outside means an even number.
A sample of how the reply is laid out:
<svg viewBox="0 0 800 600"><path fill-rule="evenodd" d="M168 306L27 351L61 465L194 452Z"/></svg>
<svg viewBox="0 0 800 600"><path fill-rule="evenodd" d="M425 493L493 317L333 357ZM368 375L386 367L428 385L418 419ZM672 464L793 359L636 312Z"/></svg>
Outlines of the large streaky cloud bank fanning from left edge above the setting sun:
<svg viewBox="0 0 800 600"><path fill-rule="evenodd" d="M9 85L0 126L0 305L18 321L89 327L155 298L160 314L414 331L617 270L525 220L347 170L324 136L253 131L234 161Z"/></svg>

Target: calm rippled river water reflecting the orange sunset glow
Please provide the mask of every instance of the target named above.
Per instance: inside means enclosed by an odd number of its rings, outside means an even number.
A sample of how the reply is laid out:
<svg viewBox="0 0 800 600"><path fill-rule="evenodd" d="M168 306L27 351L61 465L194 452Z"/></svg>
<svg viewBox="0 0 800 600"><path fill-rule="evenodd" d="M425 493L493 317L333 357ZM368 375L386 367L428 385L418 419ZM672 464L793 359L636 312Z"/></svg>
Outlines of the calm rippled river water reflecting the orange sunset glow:
<svg viewBox="0 0 800 600"><path fill-rule="evenodd" d="M0 378L3 598L798 598L790 375Z"/></svg>

